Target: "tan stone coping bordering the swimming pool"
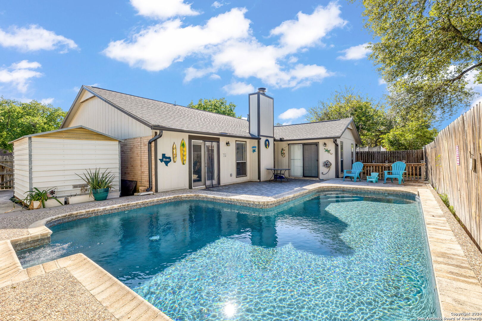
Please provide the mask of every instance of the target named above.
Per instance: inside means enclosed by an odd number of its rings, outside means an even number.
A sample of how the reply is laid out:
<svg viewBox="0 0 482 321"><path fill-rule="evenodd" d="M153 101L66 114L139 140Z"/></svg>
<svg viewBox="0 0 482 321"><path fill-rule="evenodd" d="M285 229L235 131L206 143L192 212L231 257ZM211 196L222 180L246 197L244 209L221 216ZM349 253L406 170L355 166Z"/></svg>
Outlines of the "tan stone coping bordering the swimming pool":
<svg viewBox="0 0 482 321"><path fill-rule="evenodd" d="M377 191L382 193L411 194L419 197L425 221L430 258L435 275L435 283L442 317L454 317L454 313L482 311L482 286L474 271L470 268L467 257L455 238L442 209L428 188L356 186L331 183L309 184L298 193L284 193L274 197L253 199L246 195L220 196L206 193L183 193L139 200L123 204L108 205L98 208L74 211L34 222L28 227L30 234L0 242L0 288L16 282L22 282L37 275L59 268L69 272L118 319L130 321L171 320L159 309L152 306L125 284L114 278L106 270L95 264L83 254L75 254L41 265L23 269L15 254L32 246L50 243L52 231L48 228L67 221L88 218L150 205L157 205L179 200L209 200L219 203L243 205L257 208L269 208L303 197L309 193L323 190L341 191ZM260 200L261 199L261 200ZM90 280L106 280L101 284ZM108 286L107 286L108 285ZM94 287L93 287L94 286ZM107 286L107 288L106 288ZM112 298L118 297L123 305L113 304ZM125 301L129 299L128 301ZM117 302L117 301L115 301ZM115 314L114 314L115 313ZM156 314L157 313L157 314ZM134 318L133 318L134 317Z"/></svg>

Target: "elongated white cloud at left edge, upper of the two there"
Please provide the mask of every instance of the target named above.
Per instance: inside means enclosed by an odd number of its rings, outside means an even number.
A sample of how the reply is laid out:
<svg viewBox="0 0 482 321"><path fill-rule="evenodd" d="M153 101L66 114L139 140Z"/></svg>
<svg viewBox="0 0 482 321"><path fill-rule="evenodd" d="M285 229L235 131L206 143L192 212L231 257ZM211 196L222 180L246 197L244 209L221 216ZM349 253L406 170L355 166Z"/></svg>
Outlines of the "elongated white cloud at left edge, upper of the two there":
<svg viewBox="0 0 482 321"><path fill-rule="evenodd" d="M13 47L21 51L38 51L61 49L67 52L69 49L77 49L78 46L72 39L55 34L54 31L31 25L22 28L11 26L9 32L0 28L0 45Z"/></svg>

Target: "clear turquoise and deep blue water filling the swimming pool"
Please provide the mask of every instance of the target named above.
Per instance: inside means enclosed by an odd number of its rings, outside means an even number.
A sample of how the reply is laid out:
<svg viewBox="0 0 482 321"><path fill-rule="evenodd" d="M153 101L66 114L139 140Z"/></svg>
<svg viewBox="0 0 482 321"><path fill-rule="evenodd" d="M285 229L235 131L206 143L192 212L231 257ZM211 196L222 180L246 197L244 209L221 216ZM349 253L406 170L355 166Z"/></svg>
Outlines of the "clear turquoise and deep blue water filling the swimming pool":
<svg viewBox="0 0 482 321"><path fill-rule="evenodd" d="M331 191L270 209L177 201L51 230L51 244L17 253L24 267L83 253L174 320L440 316L415 197Z"/></svg>

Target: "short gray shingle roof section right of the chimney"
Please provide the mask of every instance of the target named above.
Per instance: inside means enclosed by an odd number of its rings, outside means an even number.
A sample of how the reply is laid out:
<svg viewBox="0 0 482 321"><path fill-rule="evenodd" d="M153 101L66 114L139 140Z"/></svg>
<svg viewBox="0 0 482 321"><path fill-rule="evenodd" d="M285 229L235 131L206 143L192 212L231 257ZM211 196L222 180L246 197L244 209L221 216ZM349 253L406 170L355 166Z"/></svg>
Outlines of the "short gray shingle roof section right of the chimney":
<svg viewBox="0 0 482 321"><path fill-rule="evenodd" d="M274 127L274 137L285 141L340 137L353 118Z"/></svg>

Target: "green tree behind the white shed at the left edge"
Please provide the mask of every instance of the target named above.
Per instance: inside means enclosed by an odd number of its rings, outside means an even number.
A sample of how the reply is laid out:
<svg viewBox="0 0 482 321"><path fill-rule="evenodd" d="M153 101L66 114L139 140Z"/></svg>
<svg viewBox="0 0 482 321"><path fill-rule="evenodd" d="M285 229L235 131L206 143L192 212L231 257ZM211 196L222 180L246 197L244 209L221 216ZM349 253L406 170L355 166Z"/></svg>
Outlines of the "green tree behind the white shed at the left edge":
<svg viewBox="0 0 482 321"><path fill-rule="evenodd" d="M13 141L24 135L58 129L67 113L52 104L21 103L0 97L0 148L12 151Z"/></svg>

